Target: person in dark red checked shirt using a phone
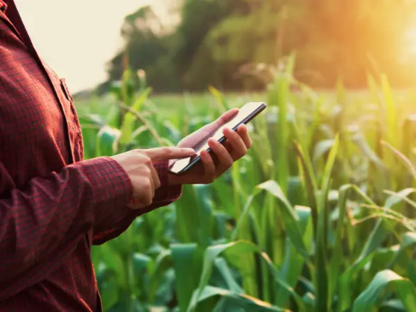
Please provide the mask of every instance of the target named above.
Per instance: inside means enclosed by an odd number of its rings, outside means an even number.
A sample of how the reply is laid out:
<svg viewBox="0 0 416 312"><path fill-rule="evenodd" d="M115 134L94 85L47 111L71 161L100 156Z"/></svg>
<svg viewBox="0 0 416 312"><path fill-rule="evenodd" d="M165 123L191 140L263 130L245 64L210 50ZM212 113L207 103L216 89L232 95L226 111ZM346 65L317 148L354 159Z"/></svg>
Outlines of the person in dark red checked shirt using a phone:
<svg viewBox="0 0 416 312"><path fill-rule="evenodd" d="M241 126L224 130L224 146L209 141L215 157L202 153L186 175L167 170L235 114L175 148L84 160L67 83L37 54L14 1L0 0L0 311L102 311L92 245L177 200L182 185L211 183L243 157L252 141Z"/></svg>

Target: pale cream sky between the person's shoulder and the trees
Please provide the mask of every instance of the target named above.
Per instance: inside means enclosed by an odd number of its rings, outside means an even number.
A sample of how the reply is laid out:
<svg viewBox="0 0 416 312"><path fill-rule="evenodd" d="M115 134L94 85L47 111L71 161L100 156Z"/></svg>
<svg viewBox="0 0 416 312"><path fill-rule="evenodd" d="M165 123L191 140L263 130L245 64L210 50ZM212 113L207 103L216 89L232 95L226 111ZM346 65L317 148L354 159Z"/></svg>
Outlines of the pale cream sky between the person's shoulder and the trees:
<svg viewBox="0 0 416 312"><path fill-rule="evenodd" d="M74 93L105 80L105 62L122 46L120 28L125 15L150 1L15 0L15 3L40 57L67 79Z"/></svg>

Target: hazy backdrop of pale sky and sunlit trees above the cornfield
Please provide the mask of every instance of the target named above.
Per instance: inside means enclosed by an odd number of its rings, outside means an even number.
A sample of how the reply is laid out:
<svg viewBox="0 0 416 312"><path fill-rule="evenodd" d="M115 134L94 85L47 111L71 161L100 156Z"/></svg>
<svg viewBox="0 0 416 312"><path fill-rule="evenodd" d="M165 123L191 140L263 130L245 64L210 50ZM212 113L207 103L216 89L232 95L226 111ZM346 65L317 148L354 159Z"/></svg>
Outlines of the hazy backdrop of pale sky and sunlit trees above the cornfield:
<svg viewBox="0 0 416 312"><path fill-rule="evenodd" d="M262 89L245 66L291 52L295 77L313 87L342 78L361 89L369 71L408 87L416 79L414 2L17 0L37 49L73 93L107 91L125 57L157 92Z"/></svg>

